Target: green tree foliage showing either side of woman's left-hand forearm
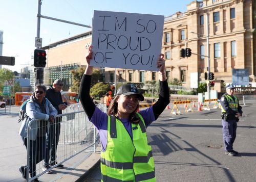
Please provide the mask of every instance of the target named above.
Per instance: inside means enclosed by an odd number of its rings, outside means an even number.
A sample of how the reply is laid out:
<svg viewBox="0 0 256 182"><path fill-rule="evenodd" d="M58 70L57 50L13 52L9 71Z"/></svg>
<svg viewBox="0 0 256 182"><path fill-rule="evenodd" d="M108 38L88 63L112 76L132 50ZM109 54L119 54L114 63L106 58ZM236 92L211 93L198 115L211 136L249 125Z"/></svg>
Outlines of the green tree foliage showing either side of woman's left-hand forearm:
<svg viewBox="0 0 256 182"><path fill-rule="evenodd" d="M73 86L71 87L72 92L78 92L80 82L85 70L86 70L86 67L79 67L77 70L74 70L74 69L71 70L72 77L73 77ZM99 70L94 69L92 74L91 86L98 83L100 79L101 79L101 76L100 76Z"/></svg>

